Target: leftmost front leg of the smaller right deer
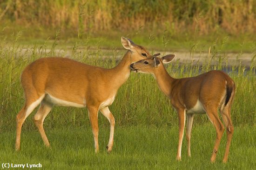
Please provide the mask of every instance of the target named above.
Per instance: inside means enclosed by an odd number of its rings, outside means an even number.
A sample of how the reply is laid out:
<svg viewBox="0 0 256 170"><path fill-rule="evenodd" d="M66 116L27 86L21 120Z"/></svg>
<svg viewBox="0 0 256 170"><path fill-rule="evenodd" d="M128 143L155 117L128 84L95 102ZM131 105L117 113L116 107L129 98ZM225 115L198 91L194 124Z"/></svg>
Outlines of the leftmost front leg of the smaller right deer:
<svg viewBox="0 0 256 170"><path fill-rule="evenodd" d="M180 161L182 159L182 139L184 135L184 126L186 120L186 110L185 109L177 109L178 117L179 117L179 145L176 159Z"/></svg>

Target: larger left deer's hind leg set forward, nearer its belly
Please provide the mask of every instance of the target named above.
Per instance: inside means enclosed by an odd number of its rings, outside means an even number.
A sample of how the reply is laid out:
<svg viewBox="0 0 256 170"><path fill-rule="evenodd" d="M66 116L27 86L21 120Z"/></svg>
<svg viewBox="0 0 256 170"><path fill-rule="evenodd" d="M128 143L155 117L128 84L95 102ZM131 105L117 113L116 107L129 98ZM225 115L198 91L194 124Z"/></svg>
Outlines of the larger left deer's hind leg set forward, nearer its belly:
<svg viewBox="0 0 256 170"><path fill-rule="evenodd" d="M44 123L44 119L47 117L48 113L52 110L52 108L53 108L52 104L42 101L39 110L34 115L34 123L37 126L38 131L40 132L40 135L44 141L44 144L47 147L50 146L50 143L45 134L43 123Z"/></svg>

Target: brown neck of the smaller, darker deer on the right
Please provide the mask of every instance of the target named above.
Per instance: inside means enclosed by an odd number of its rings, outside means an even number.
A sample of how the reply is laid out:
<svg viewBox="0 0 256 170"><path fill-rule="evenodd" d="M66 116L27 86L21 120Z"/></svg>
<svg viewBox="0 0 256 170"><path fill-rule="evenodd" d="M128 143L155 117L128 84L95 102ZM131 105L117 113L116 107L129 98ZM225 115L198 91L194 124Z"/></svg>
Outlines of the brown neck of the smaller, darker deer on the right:
<svg viewBox="0 0 256 170"><path fill-rule="evenodd" d="M155 79L157 81L157 84L159 88L162 90L162 92L170 97L172 88L175 82L175 78L172 78L166 69L164 68L163 65L159 65L158 70L154 72L153 74L155 75Z"/></svg>

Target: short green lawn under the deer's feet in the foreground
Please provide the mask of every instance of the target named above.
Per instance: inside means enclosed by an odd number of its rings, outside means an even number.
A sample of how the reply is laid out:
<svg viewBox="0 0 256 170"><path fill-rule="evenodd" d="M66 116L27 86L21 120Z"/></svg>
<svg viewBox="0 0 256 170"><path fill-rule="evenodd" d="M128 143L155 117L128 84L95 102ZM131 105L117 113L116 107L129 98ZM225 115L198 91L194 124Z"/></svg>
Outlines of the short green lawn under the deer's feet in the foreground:
<svg viewBox="0 0 256 170"><path fill-rule="evenodd" d="M47 149L38 131L24 130L21 150L14 151L15 131L0 134L0 164L42 164L43 169L237 169L256 168L256 127L235 127L229 161L222 163L226 146L226 131L222 137L216 163L210 163L216 131L212 124L196 124L191 139L191 154L187 156L186 137L182 145L182 161L175 160L178 126L116 126L112 153L106 152L109 126L101 125L100 152L94 153L92 131L87 128L47 130L51 143Z"/></svg>

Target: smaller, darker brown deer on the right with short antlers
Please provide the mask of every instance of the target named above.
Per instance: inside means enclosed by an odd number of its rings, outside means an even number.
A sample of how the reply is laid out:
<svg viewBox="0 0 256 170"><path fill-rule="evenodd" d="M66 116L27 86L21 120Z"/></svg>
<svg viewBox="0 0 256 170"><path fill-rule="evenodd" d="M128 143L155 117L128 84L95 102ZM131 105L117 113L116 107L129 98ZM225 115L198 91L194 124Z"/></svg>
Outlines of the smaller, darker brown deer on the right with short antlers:
<svg viewBox="0 0 256 170"><path fill-rule="evenodd" d="M134 72L151 73L156 78L157 84L162 92L171 99L171 104L178 112L179 117L179 144L177 160L181 160L182 138L185 126L185 116L187 116L187 142L188 155L190 153L190 138L194 114L205 113L216 128L216 142L211 157L211 162L215 162L216 153L220 144L224 126L218 117L220 109L223 121L227 129L227 145L223 158L226 163L229 155L229 146L234 132L230 118L230 109L235 95L234 81L222 71L210 71L191 78L172 78L166 71L163 63L169 63L175 58L175 54L170 54L162 58L152 57L142 59L131 64Z"/></svg>

